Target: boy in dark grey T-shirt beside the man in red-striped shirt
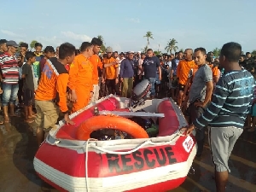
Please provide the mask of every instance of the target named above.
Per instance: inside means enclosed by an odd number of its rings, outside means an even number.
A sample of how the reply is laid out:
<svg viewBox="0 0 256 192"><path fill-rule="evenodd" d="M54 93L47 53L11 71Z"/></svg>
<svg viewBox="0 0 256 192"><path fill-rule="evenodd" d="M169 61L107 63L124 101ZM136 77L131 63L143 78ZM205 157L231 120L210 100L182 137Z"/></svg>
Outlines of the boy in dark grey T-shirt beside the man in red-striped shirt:
<svg viewBox="0 0 256 192"><path fill-rule="evenodd" d="M26 63L22 67L22 79L23 79L23 101L25 121L32 123L32 101L34 99L34 82L32 73L32 63L36 61L36 55L32 51L26 52Z"/></svg>

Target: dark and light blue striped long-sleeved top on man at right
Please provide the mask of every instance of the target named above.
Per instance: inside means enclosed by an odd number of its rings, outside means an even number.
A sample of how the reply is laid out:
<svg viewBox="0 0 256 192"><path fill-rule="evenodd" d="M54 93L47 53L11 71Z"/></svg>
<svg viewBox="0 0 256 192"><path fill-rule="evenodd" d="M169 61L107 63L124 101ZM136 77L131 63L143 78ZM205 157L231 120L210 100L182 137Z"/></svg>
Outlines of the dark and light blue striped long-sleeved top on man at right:
<svg viewBox="0 0 256 192"><path fill-rule="evenodd" d="M247 70L225 73L218 80L212 102L205 113L193 122L195 127L201 129L210 125L243 128L252 106L254 86L253 75Z"/></svg>

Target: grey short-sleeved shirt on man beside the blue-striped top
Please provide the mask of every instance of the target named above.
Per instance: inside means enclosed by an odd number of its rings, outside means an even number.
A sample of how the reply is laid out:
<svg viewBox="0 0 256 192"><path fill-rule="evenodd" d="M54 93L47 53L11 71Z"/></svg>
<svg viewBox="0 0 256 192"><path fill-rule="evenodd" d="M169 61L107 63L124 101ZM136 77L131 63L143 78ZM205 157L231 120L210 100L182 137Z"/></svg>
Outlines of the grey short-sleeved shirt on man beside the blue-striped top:
<svg viewBox="0 0 256 192"><path fill-rule="evenodd" d="M208 65L201 66L195 73L189 90L189 103L199 99L204 102L207 94L207 82L212 81L212 69Z"/></svg>

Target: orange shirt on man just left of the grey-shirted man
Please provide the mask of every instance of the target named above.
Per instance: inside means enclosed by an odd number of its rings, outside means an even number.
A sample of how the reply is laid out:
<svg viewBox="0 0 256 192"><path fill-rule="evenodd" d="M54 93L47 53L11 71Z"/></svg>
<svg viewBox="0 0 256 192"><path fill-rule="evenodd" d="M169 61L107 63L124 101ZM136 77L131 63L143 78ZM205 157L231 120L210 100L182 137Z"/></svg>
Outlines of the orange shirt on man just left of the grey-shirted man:
<svg viewBox="0 0 256 192"><path fill-rule="evenodd" d="M191 68L195 67L195 61L186 61L186 60L182 60L179 61L178 65L177 65L177 78L178 78L178 83L179 84L186 84L187 83L187 79L188 79L188 75L189 75L189 71Z"/></svg>

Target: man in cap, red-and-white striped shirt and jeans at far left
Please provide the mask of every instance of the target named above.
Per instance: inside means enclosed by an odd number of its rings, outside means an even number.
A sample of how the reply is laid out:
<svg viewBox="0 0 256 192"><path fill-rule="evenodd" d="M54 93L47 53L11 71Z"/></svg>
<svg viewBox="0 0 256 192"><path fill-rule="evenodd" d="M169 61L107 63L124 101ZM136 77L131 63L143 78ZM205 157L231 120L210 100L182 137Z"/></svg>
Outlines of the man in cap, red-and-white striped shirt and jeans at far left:
<svg viewBox="0 0 256 192"><path fill-rule="evenodd" d="M8 51L0 56L0 66L3 73L3 114L4 121L9 122L8 104L10 116L15 116L15 102L19 90L19 66L15 53L19 44L11 40L6 43Z"/></svg>

